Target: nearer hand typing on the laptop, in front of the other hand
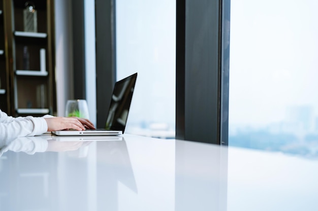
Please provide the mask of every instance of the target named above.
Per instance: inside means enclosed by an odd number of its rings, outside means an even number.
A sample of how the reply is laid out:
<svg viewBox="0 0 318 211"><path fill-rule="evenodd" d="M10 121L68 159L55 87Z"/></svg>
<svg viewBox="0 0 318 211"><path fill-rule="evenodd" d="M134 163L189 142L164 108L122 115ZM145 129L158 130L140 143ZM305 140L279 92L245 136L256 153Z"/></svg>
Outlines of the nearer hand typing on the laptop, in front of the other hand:
<svg viewBox="0 0 318 211"><path fill-rule="evenodd" d="M84 125L77 118L69 118L69 117L52 117L52 118L44 118L47 123L47 131L60 131L66 129L74 129L77 131L85 130Z"/></svg>

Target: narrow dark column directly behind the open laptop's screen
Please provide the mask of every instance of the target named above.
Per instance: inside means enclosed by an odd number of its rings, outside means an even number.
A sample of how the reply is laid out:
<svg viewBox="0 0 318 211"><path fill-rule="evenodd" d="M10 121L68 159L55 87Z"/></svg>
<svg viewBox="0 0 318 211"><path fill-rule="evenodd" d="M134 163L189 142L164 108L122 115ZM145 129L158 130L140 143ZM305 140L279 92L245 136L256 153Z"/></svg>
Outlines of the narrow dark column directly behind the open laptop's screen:
<svg viewBox="0 0 318 211"><path fill-rule="evenodd" d="M115 0L96 0L97 126L105 128L116 81Z"/></svg>

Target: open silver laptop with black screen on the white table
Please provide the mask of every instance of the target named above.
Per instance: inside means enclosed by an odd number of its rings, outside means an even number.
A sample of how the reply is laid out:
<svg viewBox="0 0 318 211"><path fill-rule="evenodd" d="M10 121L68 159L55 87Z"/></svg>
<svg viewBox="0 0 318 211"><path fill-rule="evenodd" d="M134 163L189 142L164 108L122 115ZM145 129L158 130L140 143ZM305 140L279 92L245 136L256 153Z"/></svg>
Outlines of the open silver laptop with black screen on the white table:
<svg viewBox="0 0 318 211"><path fill-rule="evenodd" d="M124 133L133 98L137 72L115 83L105 129L52 131L56 136L117 136Z"/></svg>

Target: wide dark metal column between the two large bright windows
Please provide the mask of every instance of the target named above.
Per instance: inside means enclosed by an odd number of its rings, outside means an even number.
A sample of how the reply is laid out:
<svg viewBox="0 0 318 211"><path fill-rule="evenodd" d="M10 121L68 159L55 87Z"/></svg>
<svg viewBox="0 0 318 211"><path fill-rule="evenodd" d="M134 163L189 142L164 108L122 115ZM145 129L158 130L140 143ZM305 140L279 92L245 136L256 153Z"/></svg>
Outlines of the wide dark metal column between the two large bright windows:
<svg viewBox="0 0 318 211"><path fill-rule="evenodd" d="M222 75L229 66L222 43L223 31L230 27L223 20L227 7L222 0L177 0L177 139L221 143L221 121L223 128L228 123L222 115L222 103L228 102L222 92L228 92L228 77Z"/></svg>

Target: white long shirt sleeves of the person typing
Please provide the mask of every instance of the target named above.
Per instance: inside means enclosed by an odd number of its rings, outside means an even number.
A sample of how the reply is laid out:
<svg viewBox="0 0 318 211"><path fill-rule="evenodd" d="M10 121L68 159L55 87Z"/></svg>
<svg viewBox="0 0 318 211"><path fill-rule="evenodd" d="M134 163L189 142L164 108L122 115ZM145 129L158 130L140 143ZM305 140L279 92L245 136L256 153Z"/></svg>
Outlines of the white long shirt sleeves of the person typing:
<svg viewBox="0 0 318 211"><path fill-rule="evenodd" d="M38 136L47 132L43 117L12 117L0 110L0 146L8 145L18 137Z"/></svg>

